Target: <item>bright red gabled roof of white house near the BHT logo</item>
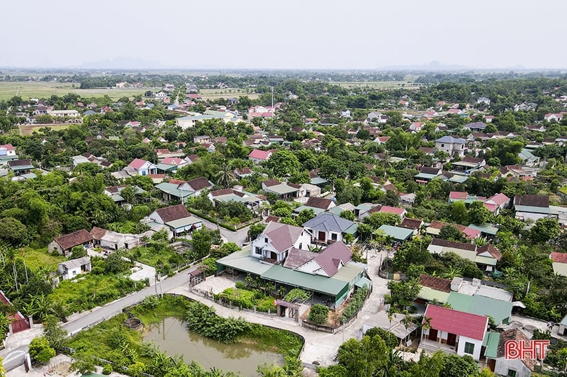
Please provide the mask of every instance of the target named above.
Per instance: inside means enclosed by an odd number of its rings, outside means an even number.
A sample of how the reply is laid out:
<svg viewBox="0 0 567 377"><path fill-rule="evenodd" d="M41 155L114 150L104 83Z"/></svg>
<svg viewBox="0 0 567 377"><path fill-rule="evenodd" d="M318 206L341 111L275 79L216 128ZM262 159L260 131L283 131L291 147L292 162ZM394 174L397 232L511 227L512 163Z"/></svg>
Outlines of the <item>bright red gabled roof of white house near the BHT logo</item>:
<svg viewBox="0 0 567 377"><path fill-rule="evenodd" d="M431 318L432 329L446 331L459 336L483 340L488 326L488 318L464 311L453 310L435 305L427 305L425 317Z"/></svg>

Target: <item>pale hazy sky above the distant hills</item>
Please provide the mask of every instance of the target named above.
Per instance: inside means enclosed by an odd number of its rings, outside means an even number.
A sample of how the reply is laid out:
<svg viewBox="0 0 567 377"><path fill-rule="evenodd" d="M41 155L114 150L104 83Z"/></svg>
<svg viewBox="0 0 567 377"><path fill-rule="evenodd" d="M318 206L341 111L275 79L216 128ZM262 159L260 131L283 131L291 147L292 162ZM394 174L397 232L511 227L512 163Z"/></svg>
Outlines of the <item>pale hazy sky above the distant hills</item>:
<svg viewBox="0 0 567 377"><path fill-rule="evenodd" d="M567 68L567 0L10 0L0 66Z"/></svg>

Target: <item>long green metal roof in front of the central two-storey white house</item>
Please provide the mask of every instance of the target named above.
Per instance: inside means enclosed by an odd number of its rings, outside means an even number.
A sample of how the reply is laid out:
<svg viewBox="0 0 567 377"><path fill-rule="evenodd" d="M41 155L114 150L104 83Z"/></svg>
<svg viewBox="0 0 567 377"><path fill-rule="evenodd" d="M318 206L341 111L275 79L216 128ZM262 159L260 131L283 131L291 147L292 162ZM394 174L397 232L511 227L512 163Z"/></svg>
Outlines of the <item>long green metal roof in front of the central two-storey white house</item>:
<svg viewBox="0 0 567 377"><path fill-rule="evenodd" d="M270 267L268 271L261 275L261 278L335 297L337 297L345 287L348 289L348 282L343 280L294 271L292 269L286 269L279 264Z"/></svg>

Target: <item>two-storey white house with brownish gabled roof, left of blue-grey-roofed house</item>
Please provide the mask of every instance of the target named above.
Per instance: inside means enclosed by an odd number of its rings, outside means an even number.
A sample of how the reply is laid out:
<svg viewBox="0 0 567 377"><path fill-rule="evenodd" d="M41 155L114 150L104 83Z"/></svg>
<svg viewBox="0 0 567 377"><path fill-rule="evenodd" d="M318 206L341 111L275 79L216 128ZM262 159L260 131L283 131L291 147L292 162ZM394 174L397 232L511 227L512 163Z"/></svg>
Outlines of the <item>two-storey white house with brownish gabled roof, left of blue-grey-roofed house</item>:
<svg viewBox="0 0 567 377"><path fill-rule="evenodd" d="M282 264L292 248L305 250L309 246L310 235L303 228L272 221L252 241L250 253L254 258Z"/></svg>

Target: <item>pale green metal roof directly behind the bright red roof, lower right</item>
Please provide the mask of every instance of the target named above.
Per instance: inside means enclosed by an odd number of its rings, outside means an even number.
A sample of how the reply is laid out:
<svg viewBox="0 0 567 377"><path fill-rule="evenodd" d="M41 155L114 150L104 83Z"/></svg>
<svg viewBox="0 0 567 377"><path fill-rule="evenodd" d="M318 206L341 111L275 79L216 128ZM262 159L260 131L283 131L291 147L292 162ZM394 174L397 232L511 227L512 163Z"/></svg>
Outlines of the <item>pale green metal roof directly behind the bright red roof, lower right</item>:
<svg viewBox="0 0 567 377"><path fill-rule="evenodd" d="M484 296L469 296L463 293L449 293L447 303L455 310L478 314L479 316L490 316L496 325L503 321L508 322L512 315L512 302L496 300Z"/></svg>

